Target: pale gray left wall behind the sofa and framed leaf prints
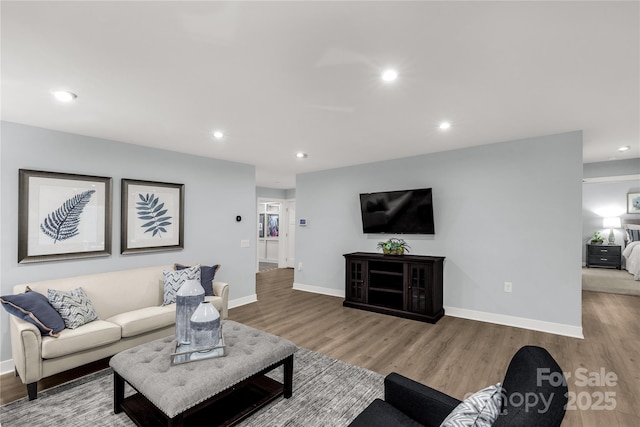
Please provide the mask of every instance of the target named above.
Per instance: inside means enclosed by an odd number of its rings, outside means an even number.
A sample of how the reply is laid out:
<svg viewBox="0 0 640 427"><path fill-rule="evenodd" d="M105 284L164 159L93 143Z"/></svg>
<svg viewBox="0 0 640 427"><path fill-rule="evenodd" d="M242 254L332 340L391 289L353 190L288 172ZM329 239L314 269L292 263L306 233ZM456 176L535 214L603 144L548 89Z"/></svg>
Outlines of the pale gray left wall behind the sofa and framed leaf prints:
<svg viewBox="0 0 640 427"><path fill-rule="evenodd" d="M255 294L256 185L253 166L2 122L2 295L15 284L161 264L222 264L230 299ZM18 169L113 178L112 255L84 260L17 263ZM120 255L121 178L185 184L185 249ZM235 221L236 215L245 218ZM251 242L240 248L240 240ZM11 358L8 314L1 310L0 360Z"/></svg>

